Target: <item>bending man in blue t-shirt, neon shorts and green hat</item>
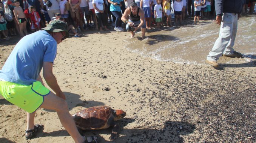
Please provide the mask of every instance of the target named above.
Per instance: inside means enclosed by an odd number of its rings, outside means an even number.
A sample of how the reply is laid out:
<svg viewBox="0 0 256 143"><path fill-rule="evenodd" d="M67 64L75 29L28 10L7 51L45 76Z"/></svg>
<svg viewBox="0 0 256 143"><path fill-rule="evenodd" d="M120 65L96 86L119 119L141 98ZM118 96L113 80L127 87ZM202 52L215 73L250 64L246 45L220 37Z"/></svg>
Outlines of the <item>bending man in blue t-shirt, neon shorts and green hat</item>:
<svg viewBox="0 0 256 143"><path fill-rule="evenodd" d="M57 44L69 36L67 29L65 22L53 20L42 30L23 37L0 70L0 95L27 111L27 139L42 128L42 124L34 125L35 111L40 107L55 110L76 143L97 140L97 137L85 138L79 134L69 114L65 95L52 73ZM56 95L44 86L40 76L42 68L46 83Z"/></svg>

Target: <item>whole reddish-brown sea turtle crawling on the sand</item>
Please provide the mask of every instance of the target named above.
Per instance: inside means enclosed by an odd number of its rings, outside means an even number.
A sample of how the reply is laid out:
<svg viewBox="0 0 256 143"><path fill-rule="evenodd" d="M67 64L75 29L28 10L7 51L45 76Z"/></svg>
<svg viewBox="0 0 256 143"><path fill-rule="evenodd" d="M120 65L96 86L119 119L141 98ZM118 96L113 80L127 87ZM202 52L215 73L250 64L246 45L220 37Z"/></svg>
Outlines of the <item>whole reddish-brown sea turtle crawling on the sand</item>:
<svg viewBox="0 0 256 143"><path fill-rule="evenodd" d="M123 110L114 110L108 106L86 108L72 115L76 126L85 129L106 129L114 126L109 139L114 140L120 133L120 126L116 122L126 116Z"/></svg>

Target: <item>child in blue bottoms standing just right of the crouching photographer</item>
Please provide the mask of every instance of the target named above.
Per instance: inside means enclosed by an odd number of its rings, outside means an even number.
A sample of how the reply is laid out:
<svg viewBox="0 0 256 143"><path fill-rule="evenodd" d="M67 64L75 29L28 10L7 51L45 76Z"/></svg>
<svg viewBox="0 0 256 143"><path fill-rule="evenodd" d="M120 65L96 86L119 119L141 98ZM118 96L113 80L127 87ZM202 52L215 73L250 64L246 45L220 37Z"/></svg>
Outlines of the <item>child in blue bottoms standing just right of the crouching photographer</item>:
<svg viewBox="0 0 256 143"><path fill-rule="evenodd" d="M151 24L151 0L140 0L140 7L143 8L146 21L146 28L150 29Z"/></svg>

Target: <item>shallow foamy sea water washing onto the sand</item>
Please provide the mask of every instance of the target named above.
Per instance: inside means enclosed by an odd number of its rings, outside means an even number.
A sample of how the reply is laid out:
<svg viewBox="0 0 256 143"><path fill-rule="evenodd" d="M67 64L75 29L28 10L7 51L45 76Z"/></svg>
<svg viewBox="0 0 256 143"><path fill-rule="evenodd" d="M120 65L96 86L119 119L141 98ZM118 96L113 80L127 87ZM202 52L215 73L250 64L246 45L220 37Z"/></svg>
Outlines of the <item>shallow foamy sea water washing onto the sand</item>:
<svg viewBox="0 0 256 143"><path fill-rule="evenodd" d="M126 48L143 56L176 63L205 64L205 59L219 36L220 26L214 20L203 20L185 26L163 27L157 31L146 32L141 40L141 33L135 38L126 39ZM238 20L238 29L234 49L245 56L255 59L256 55L256 16L248 15Z"/></svg>

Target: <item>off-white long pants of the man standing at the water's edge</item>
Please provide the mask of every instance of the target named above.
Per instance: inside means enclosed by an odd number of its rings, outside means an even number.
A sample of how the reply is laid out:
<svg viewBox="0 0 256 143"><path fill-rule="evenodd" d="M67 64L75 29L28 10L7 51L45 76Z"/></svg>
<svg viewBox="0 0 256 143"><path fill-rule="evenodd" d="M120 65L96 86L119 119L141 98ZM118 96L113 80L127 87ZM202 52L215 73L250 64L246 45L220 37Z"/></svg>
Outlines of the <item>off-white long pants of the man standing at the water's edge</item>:
<svg viewBox="0 0 256 143"><path fill-rule="evenodd" d="M237 31L238 14L223 13L219 38L207 56L207 60L216 61L222 54L233 54Z"/></svg>

